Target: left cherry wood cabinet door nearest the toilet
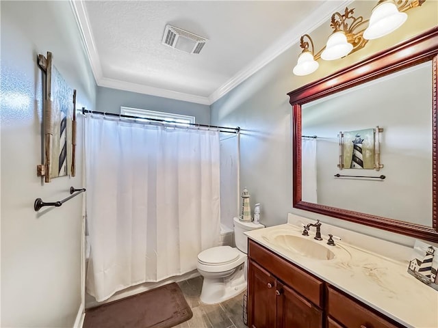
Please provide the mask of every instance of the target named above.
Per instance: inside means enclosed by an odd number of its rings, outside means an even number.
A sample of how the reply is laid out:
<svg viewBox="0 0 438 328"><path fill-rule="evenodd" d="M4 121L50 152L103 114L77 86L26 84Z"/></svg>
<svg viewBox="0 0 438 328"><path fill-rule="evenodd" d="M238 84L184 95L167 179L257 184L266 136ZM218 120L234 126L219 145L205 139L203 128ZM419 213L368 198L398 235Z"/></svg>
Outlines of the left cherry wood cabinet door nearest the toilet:
<svg viewBox="0 0 438 328"><path fill-rule="evenodd" d="M252 260L248 263L248 327L275 327L275 278Z"/></svg>

